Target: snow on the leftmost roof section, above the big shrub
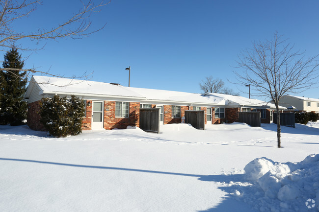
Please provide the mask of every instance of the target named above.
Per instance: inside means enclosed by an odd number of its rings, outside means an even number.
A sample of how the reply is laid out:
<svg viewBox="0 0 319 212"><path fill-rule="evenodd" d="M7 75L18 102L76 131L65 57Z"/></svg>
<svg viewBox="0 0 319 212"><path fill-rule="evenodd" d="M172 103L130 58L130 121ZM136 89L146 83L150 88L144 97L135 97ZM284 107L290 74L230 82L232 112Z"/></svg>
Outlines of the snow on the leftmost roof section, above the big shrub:
<svg viewBox="0 0 319 212"><path fill-rule="evenodd" d="M126 89L121 85L79 79L33 76L43 93L98 94L113 96L140 97L142 95Z"/></svg>

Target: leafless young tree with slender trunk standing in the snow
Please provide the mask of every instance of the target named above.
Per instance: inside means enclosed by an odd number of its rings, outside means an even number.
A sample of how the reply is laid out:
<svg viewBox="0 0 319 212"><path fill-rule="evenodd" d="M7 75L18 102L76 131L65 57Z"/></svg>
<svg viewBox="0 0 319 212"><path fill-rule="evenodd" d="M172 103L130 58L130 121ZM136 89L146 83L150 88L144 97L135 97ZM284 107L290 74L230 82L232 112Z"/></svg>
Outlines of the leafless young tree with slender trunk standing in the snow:
<svg viewBox="0 0 319 212"><path fill-rule="evenodd" d="M277 32L272 40L255 42L251 49L239 55L235 71L239 84L252 85L261 96L271 99L277 112L277 146L281 147L279 100L286 93L300 93L316 82L317 56L305 58L304 51L293 50L293 45Z"/></svg>

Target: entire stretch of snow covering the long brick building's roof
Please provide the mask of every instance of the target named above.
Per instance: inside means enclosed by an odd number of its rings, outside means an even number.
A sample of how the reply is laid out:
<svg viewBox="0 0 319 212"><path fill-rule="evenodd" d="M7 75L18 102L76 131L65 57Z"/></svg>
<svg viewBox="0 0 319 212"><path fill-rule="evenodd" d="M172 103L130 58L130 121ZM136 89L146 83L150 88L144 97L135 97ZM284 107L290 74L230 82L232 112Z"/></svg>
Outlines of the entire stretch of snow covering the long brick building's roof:
<svg viewBox="0 0 319 212"><path fill-rule="evenodd" d="M147 101L169 101L183 103L197 103L220 106L251 106L271 107L275 105L258 99L249 99L242 96L228 94L193 94L177 91L125 87L118 84L95 82L61 77L33 76L44 94L85 94L85 95L111 95L134 97ZM280 107L283 108L283 107Z"/></svg>

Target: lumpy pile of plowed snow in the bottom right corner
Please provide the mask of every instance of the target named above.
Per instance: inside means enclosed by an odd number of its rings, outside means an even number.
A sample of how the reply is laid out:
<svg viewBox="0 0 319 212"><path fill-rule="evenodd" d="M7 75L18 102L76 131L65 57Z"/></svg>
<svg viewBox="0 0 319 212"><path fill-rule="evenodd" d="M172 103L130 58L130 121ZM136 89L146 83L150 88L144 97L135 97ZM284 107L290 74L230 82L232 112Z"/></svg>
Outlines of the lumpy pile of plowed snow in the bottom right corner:
<svg viewBox="0 0 319 212"><path fill-rule="evenodd" d="M256 158L244 170L245 179L255 181L255 193L250 192L244 201L254 204L255 209L319 211L319 154L309 155L299 163Z"/></svg>

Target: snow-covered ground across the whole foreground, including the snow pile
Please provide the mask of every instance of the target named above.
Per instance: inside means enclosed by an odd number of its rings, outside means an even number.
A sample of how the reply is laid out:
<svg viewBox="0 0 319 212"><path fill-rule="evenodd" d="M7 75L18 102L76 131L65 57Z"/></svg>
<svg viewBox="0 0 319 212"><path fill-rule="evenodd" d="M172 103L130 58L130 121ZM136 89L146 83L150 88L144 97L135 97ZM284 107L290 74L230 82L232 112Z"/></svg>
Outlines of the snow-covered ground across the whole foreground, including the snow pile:
<svg viewBox="0 0 319 212"><path fill-rule="evenodd" d="M282 127L283 148L275 124L60 139L0 126L0 211L318 212L318 126Z"/></svg>

